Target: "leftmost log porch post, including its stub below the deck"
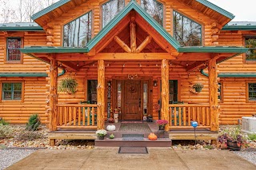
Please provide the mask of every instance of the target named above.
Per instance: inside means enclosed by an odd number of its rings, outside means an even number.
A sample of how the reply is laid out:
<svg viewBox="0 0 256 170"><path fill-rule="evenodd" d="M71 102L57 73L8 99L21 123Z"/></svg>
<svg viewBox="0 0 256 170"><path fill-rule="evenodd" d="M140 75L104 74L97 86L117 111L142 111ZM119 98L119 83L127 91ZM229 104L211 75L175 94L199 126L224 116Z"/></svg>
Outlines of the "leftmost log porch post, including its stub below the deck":
<svg viewBox="0 0 256 170"><path fill-rule="evenodd" d="M50 131L57 130L57 80L58 79L58 61L50 59ZM54 139L50 139L50 146L55 144Z"/></svg>

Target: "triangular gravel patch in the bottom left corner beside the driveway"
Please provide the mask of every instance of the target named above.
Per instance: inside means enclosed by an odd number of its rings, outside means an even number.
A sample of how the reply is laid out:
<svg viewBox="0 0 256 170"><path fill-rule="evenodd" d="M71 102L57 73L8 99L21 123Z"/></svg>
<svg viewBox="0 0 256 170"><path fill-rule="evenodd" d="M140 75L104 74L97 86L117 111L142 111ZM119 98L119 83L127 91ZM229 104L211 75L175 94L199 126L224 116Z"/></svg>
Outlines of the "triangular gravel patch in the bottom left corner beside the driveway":
<svg viewBox="0 0 256 170"><path fill-rule="evenodd" d="M15 164L35 151L33 149L0 149L0 170Z"/></svg>

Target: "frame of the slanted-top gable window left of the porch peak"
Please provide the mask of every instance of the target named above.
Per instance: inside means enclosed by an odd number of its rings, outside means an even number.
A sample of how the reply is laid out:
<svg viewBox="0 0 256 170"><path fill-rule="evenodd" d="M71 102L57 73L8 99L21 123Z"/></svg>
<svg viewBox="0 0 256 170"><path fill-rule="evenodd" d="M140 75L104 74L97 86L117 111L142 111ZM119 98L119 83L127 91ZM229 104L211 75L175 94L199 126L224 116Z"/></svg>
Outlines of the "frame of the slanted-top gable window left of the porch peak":
<svg viewBox="0 0 256 170"><path fill-rule="evenodd" d="M77 18L74 18L74 19L72 19L72 20L70 20L70 21L68 21L68 22L66 22L66 23L64 23L63 25L62 25L62 39L61 39L61 44L62 44L62 46L64 47L64 26L66 26L67 24L69 24L70 22L74 22L75 20L77 20L78 18L82 18L84 15L86 15L86 14L89 14L89 13L91 13L91 30L90 30L90 40L92 39L92 38L94 38L94 10L89 10L89 11L87 11L85 14L82 14L82 15L80 15L80 16L78 16ZM90 42L90 40L88 41L88 42ZM87 43L88 43L87 42ZM68 46L67 46L68 47ZM82 47L70 47L70 48L82 48Z"/></svg>

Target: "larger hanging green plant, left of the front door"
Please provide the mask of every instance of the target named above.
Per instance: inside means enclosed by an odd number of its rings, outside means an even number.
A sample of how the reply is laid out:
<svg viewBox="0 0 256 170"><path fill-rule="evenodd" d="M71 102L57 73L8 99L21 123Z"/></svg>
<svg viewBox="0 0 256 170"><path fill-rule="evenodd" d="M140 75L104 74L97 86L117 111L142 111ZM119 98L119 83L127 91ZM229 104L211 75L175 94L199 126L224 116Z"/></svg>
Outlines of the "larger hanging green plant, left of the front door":
<svg viewBox="0 0 256 170"><path fill-rule="evenodd" d="M64 77L60 80L58 89L61 92L74 94L77 91L78 82L72 77Z"/></svg>

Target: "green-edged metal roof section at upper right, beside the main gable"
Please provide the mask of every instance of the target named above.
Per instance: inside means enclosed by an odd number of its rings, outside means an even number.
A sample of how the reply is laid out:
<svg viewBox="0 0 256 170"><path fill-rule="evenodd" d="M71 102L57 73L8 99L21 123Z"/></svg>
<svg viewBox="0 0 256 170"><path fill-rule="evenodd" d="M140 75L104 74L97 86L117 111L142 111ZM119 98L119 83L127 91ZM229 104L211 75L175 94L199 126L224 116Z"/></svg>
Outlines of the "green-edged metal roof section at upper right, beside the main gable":
<svg viewBox="0 0 256 170"><path fill-rule="evenodd" d="M229 22L222 30L256 30L256 22Z"/></svg>

